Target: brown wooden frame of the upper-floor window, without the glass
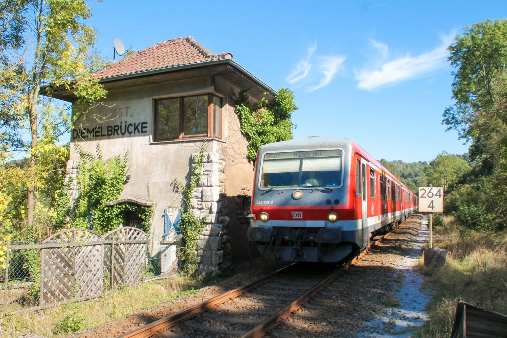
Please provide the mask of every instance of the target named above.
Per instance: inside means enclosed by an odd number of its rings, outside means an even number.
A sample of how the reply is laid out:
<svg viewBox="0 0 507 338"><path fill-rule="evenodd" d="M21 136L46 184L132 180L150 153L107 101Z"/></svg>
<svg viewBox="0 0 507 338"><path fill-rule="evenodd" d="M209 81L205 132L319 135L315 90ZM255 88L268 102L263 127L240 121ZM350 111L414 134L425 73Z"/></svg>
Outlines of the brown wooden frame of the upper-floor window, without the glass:
<svg viewBox="0 0 507 338"><path fill-rule="evenodd" d="M185 124L185 98L188 97L196 97L196 96L205 96L208 97L208 127L207 132L205 134L192 134L192 135L185 135L184 133L184 124ZM218 98L220 101L220 135L215 135L214 133L214 98ZM170 100L170 99L178 99L179 101L179 109L178 109L178 136L177 137L161 137L157 135L157 124L159 121L159 111L158 111L158 102L164 101L164 100ZM215 139L222 139L223 137L223 130L222 130L222 124L223 124L223 111L222 111L222 97L215 95L213 93L203 93L203 94L194 94L194 95L185 95L185 96L177 96L177 97L167 97L167 98L160 98L155 99L154 101L154 129L153 129L153 140L155 142L163 142L163 141L177 141L177 140L188 140L188 139L203 139L203 138L215 138Z"/></svg>

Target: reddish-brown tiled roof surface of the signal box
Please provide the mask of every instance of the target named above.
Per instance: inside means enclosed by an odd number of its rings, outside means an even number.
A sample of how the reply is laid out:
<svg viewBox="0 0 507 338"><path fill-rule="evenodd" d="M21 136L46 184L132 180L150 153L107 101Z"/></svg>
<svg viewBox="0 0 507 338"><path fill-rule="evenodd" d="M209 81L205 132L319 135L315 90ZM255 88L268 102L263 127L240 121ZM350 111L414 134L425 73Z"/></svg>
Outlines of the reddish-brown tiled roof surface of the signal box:
<svg viewBox="0 0 507 338"><path fill-rule="evenodd" d="M102 68L94 73L97 79L112 78L142 71L182 66L205 61L232 58L232 54L215 55L194 40L192 36L159 42L138 53Z"/></svg>

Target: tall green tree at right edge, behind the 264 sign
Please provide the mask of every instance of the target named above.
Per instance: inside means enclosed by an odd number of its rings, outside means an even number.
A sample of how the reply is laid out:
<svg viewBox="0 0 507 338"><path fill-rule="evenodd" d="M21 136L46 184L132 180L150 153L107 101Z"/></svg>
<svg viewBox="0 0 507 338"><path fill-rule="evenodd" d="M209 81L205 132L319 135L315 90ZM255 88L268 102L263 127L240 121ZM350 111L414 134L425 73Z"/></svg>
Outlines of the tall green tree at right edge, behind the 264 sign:
<svg viewBox="0 0 507 338"><path fill-rule="evenodd" d="M507 21L465 27L448 48L455 104L443 124L471 141L475 166L449 196L458 220L474 229L507 223ZM472 193L471 193L472 192ZM490 222L490 224L485 224Z"/></svg>

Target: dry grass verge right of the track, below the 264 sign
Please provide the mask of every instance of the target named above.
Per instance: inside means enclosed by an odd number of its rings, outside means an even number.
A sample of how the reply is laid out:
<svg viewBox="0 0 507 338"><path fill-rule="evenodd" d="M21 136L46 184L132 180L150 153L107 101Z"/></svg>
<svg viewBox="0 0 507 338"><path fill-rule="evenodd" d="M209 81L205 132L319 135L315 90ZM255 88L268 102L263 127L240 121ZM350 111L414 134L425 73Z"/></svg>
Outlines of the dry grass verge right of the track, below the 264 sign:
<svg viewBox="0 0 507 338"><path fill-rule="evenodd" d="M433 290L424 337L450 336L459 299L507 314L507 232L463 231L452 217L444 220L434 231L434 247L447 250L446 265L431 269L422 259L418 264Z"/></svg>

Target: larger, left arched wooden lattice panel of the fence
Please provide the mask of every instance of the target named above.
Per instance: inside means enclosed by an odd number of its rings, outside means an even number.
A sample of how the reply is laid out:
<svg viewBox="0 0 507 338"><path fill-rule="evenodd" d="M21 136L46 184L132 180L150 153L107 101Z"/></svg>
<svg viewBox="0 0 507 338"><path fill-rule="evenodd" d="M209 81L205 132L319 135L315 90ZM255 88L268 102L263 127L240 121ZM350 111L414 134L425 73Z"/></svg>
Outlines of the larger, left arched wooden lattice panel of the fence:
<svg viewBox="0 0 507 338"><path fill-rule="evenodd" d="M102 237L86 229L62 230L44 240L41 251L41 305L102 293Z"/></svg>

